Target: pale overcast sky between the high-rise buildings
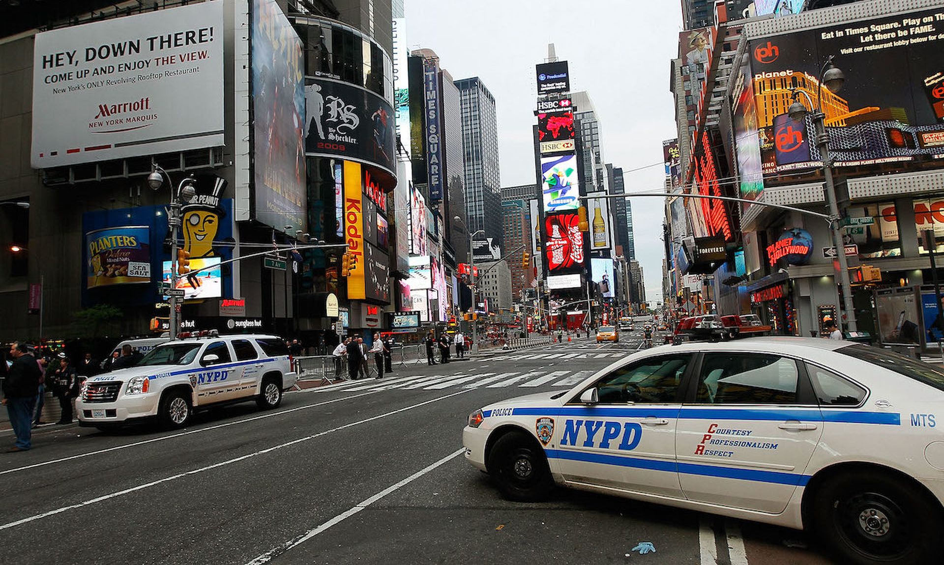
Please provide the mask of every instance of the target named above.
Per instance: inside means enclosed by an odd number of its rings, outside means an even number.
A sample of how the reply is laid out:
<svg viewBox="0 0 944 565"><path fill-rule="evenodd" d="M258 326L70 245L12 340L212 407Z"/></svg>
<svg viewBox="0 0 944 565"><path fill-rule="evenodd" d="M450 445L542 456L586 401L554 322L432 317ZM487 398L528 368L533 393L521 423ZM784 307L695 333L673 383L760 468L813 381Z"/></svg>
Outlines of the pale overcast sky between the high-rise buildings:
<svg viewBox="0 0 944 565"><path fill-rule="evenodd" d="M407 44L439 56L456 80L479 76L495 96L501 186L534 182L534 65L569 63L570 90L597 109L604 162L622 167L626 191L662 191L662 141L676 137L669 60L682 31L678 0L406 0ZM470 9L473 7L474 9ZM660 166L625 173L660 163ZM647 300L662 299L662 198L632 198L636 259Z"/></svg>

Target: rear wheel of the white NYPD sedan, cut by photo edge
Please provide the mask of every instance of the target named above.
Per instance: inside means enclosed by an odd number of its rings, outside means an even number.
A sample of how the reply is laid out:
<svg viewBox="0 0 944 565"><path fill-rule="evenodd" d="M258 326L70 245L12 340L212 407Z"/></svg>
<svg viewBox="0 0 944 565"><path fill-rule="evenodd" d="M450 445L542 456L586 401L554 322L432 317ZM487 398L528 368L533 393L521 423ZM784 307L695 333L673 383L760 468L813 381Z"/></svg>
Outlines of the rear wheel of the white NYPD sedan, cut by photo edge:
<svg viewBox="0 0 944 565"><path fill-rule="evenodd" d="M941 508L930 494L876 471L837 474L821 483L809 530L842 563L939 563Z"/></svg>

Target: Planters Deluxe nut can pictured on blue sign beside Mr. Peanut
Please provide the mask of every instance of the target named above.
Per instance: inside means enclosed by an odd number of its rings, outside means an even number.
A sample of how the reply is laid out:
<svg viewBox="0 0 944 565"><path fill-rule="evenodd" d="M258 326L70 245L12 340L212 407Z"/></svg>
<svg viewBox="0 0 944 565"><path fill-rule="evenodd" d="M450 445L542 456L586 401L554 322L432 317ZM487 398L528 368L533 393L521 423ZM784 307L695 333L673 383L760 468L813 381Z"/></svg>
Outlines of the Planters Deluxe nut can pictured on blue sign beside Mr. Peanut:
<svg viewBox="0 0 944 565"><path fill-rule="evenodd" d="M150 228L121 225L85 234L86 287L151 282Z"/></svg>

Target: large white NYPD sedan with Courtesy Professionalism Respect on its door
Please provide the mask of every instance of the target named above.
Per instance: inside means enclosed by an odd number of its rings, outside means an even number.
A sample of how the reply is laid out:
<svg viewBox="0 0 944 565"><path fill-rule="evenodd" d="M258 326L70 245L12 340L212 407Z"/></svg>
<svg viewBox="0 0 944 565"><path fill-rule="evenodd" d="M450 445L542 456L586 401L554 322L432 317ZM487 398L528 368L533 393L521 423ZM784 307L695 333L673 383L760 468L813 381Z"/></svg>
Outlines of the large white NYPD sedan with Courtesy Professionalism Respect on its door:
<svg viewBox="0 0 944 565"><path fill-rule="evenodd" d="M849 341L666 345L469 416L515 500L557 484L806 528L848 563L940 563L944 371Z"/></svg>

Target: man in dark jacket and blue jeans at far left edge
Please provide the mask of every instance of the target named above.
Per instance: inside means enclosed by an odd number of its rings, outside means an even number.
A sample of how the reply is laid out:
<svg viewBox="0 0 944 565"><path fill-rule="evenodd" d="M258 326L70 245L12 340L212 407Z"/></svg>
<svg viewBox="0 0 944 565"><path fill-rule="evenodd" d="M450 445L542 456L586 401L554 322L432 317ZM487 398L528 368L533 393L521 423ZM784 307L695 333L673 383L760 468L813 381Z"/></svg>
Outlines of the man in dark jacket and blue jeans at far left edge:
<svg viewBox="0 0 944 565"><path fill-rule="evenodd" d="M14 341L9 347L9 357L13 363L9 366L3 381L3 404L7 406L9 423L13 427L16 442L7 453L27 451L33 446L32 429L33 406L36 404L36 391L40 386L40 367L36 357L29 354L29 348L21 341Z"/></svg>

